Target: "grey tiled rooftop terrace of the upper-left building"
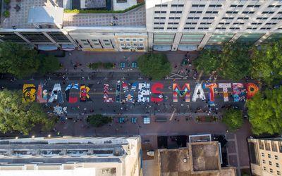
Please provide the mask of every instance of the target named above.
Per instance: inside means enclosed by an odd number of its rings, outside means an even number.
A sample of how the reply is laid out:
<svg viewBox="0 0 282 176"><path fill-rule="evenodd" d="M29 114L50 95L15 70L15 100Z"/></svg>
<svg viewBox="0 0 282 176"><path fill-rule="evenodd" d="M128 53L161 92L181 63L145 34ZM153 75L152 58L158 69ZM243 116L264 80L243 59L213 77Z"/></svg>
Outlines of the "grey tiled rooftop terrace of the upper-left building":
<svg viewBox="0 0 282 176"><path fill-rule="evenodd" d="M88 0L89 1L89 0ZM87 3L91 2L89 1ZM85 0L86 2L86 0ZM86 5L86 4L85 4ZM38 19L35 15L29 16L32 14L32 11L35 9L40 9L36 7L43 7L46 9L63 8L63 0L24 0L16 1L11 0L10 3L10 17L4 18L1 17L1 26L6 29L11 28L35 28L34 25L30 23L30 19L33 21L41 22L47 20L47 15L39 15ZM16 11L16 6L19 6L20 9ZM90 5L89 5L90 6ZM59 8L58 8L59 7ZM41 8L41 11L42 9ZM51 10L52 12L53 10ZM52 13L53 14L53 13ZM30 17L30 18L29 18ZM32 18L31 18L32 17ZM63 13L63 17L60 15L56 16L55 22L61 22L63 20L63 26L77 26L77 27L99 27L99 26L123 26L123 27L140 27L146 25L146 9L145 6L139 6L132 9L131 11L125 13ZM51 17L50 17L51 19ZM50 21L49 19L49 21ZM45 22L45 21L44 21Z"/></svg>

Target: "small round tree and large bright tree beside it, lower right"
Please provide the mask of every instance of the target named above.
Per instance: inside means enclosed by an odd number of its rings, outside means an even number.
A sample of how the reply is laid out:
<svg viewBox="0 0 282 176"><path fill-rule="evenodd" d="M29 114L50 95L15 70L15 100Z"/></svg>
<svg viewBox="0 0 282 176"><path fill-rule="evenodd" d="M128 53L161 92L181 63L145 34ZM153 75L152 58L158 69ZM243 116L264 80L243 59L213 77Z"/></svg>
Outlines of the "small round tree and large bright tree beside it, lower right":
<svg viewBox="0 0 282 176"><path fill-rule="evenodd" d="M282 87L266 89L247 101L247 113L254 134L281 134L282 132ZM228 108L223 112L223 123L231 132L243 125L243 113Z"/></svg>

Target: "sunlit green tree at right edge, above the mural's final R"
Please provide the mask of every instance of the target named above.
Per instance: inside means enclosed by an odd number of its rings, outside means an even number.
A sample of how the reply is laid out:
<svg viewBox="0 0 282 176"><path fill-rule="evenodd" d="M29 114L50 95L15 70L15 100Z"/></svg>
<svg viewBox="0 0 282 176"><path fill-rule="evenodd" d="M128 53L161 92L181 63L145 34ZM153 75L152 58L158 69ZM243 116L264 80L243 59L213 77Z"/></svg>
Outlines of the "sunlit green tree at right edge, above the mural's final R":
<svg viewBox="0 0 282 176"><path fill-rule="evenodd" d="M256 46L252 50L252 77L264 83L274 84L282 80L282 40L273 44Z"/></svg>

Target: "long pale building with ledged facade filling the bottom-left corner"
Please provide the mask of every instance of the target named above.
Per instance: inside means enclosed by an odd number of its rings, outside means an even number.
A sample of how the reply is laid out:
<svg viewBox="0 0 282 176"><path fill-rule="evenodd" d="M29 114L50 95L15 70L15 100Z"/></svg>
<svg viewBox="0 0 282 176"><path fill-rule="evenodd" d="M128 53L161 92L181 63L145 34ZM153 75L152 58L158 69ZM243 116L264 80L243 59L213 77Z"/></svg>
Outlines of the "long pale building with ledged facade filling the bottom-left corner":
<svg viewBox="0 0 282 176"><path fill-rule="evenodd" d="M0 175L139 176L140 137L0 140Z"/></svg>

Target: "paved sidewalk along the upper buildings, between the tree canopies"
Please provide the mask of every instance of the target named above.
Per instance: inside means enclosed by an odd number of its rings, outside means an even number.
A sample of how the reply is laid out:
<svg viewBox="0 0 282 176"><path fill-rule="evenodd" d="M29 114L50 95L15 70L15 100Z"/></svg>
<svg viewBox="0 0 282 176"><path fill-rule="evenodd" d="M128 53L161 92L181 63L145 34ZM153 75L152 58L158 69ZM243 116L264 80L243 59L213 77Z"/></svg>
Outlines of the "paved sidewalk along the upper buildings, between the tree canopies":
<svg viewBox="0 0 282 176"><path fill-rule="evenodd" d="M180 70L185 70L185 68L192 69L191 66L185 65L180 66L181 61L185 58L186 52L183 51L167 51L162 52L168 57L168 61L171 62L171 67L173 72ZM137 61L137 58L145 54L144 52L87 52L87 51L66 51L66 56L59 58L59 61L63 65L63 68L59 72L63 73L82 73L82 72L139 72L137 68L129 69L127 68L127 63L132 63ZM197 51L190 52L189 58L192 62L193 59L197 58ZM110 62L116 63L116 68L111 70L92 70L88 68L90 63L97 62ZM125 69L121 70L120 63L125 62ZM77 68L74 68L73 65L78 65ZM192 71L192 70L191 70Z"/></svg>

